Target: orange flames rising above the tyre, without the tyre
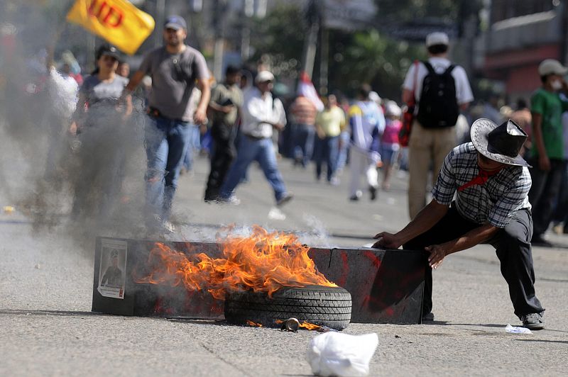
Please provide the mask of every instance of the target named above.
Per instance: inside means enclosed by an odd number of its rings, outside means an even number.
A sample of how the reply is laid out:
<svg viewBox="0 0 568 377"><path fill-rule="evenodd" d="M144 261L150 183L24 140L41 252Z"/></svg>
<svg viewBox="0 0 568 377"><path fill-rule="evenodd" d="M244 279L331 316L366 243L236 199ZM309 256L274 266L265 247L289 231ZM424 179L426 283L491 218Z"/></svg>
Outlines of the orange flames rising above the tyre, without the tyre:
<svg viewBox="0 0 568 377"><path fill-rule="evenodd" d="M254 226L249 237L227 235L219 237L217 243L224 258L188 255L156 242L149 261L158 258L160 263L136 281L172 286L182 283L190 291L205 289L222 300L226 292L234 291L268 292L272 296L284 286L337 286L317 271L307 255L310 247L302 245L295 235Z"/></svg>

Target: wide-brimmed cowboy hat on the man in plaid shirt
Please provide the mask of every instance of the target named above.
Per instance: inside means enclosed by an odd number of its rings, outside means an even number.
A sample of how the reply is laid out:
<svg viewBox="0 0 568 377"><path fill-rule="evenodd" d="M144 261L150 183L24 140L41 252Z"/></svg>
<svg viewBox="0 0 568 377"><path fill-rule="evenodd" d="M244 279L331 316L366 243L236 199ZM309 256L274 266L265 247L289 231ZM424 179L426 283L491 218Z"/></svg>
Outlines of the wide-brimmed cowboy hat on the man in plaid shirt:
<svg viewBox="0 0 568 377"><path fill-rule="evenodd" d="M488 159L502 164L531 167L519 154L527 137L513 120L497 125L481 118L471 125L471 142L475 149Z"/></svg>

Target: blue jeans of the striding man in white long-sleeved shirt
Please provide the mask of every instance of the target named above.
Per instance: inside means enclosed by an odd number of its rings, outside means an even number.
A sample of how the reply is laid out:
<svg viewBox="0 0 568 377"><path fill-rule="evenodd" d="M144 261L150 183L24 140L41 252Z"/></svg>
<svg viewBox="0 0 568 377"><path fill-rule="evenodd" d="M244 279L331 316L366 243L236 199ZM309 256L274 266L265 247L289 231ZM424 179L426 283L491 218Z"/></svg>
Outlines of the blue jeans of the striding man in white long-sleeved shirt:
<svg viewBox="0 0 568 377"><path fill-rule="evenodd" d="M239 152L236 154L236 160L231 165L224 184L221 186L219 193L221 198L227 199L233 194L234 189L246 174L246 170L249 169L249 165L255 160L261 165L264 176L266 176L268 183L272 186L276 201L279 201L286 195L286 186L278 170L274 145L270 137L256 140L242 135L239 139L237 150Z"/></svg>

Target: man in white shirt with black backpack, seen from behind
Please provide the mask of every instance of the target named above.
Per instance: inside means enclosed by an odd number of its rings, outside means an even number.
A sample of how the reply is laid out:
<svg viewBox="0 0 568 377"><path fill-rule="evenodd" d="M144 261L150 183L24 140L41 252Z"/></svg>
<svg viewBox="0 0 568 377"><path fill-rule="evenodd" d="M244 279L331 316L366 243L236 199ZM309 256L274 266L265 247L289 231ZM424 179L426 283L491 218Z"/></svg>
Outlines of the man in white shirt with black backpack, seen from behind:
<svg viewBox="0 0 568 377"><path fill-rule="evenodd" d="M432 179L435 182L444 157L457 145L454 127L459 111L466 110L474 99L465 70L459 65L452 64L447 58L448 46L449 38L446 33L427 35L426 47L429 58L426 62L410 66L403 84L403 101L410 103L414 96L417 103L416 117L408 142L410 218L414 218L426 205L430 166L433 172ZM449 82L444 83L446 77L449 78ZM427 85L424 85L425 79ZM434 86L445 88L442 89L445 96L440 96L441 92L438 89L432 90ZM423 93L427 95L421 98ZM451 99L447 97L448 94L451 94ZM443 106L436 106L436 103L442 103Z"/></svg>

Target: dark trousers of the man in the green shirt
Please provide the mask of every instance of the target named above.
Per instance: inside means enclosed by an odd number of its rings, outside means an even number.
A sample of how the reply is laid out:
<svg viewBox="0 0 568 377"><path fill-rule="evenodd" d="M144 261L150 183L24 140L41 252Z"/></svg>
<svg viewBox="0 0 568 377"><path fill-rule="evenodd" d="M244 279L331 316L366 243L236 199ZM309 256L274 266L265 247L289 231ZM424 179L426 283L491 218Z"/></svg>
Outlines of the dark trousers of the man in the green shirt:
<svg viewBox="0 0 568 377"><path fill-rule="evenodd" d="M535 235L542 236L552 220L554 203L557 201L562 175L566 168L562 159L551 159L550 170L541 170L538 159L531 163L530 178L532 186L528 193L528 200L532 205L532 218L535 223Z"/></svg>

